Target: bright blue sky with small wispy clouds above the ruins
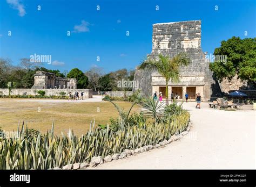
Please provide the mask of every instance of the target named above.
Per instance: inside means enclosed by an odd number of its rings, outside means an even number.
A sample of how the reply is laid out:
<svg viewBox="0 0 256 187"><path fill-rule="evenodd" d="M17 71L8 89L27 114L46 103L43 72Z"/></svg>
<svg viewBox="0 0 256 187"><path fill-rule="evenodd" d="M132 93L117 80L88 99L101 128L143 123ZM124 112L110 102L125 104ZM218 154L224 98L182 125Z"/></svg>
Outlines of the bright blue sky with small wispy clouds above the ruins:
<svg viewBox="0 0 256 187"><path fill-rule="evenodd" d="M152 24L199 19L208 54L232 36L256 37L255 0L1 0L0 57L18 64L35 53L51 55L55 63L45 67L60 71L133 69L151 53Z"/></svg>

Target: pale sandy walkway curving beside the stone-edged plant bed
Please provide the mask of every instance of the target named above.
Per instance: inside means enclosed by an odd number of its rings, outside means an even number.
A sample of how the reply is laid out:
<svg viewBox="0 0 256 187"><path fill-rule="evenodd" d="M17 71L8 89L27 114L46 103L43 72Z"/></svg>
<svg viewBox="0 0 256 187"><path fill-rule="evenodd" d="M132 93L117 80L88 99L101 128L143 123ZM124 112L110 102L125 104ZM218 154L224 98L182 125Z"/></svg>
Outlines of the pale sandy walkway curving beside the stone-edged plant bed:
<svg viewBox="0 0 256 187"><path fill-rule="evenodd" d="M256 111L194 106L184 103L192 128L183 139L96 169L255 169Z"/></svg>

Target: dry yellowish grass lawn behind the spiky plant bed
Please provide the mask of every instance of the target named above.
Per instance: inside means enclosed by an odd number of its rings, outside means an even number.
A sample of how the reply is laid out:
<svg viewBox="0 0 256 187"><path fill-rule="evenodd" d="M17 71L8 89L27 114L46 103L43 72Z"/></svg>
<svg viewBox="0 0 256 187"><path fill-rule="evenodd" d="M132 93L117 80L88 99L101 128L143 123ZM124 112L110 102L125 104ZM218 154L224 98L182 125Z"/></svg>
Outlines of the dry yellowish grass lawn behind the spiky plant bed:
<svg viewBox="0 0 256 187"><path fill-rule="evenodd" d="M95 103L42 103L20 102L21 99L0 99L0 127L5 131L17 130L18 123L24 121L28 128L35 128L41 132L51 129L52 121L55 122L55 133L68 133L69 128L76 135L85 134L90 122L107 124L109 119L118 117L116 108L110 102ZM131 103L115 102L129 110ZM139 106L134 106L132 112ZM41 110L41 111L40 111Z"/></svg>

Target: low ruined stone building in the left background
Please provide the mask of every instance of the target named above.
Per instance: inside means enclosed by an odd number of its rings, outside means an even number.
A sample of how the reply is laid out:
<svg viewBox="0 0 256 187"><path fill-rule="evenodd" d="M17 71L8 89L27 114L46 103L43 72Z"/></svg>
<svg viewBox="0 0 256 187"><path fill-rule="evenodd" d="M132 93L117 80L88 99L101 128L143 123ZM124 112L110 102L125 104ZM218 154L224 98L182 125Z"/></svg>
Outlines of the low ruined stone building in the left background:
<svg viewBox="0 0 256 187"><path fill-rule="evenodd" d="M36 71L34 78L35 83L32 87L33 89L77 89L76 78L57 77L55 74L45 71Z"/></svg>

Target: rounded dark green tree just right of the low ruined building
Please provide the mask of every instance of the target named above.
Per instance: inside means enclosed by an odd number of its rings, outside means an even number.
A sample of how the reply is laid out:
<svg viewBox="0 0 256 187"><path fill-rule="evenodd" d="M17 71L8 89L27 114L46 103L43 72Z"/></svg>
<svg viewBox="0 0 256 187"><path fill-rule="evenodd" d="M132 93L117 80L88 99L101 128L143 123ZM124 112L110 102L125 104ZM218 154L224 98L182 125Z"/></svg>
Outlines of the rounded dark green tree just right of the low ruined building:
<svg viewBox="0 0 256 187"><path fill-rule="evenodd" d="M69 71L68 78L76 78L77 80L77 88L82 89L86 88L89 84L88 77L84 75L83 71L78 68L73 68Z"/></svg>

